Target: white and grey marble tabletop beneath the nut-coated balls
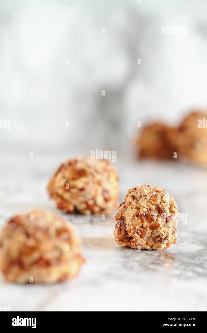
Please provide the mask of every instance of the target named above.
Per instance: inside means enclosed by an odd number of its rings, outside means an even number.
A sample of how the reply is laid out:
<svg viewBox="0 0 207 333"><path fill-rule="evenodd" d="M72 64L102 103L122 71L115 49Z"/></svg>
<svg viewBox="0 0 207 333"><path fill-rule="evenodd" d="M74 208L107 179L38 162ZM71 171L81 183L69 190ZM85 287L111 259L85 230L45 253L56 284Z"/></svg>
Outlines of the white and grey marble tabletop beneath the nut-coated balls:
<svg viewBox="0 0 207 333"><path fill-rule="evenodd" d="M0 223L30 208L51 209L72 223L83 238L87 264L71 281L49 286L16 285L0 276L0 306L11 311L198 311L207 305L207 170L176 161L155 163L118 157L120 199L137 183L166 189L187 223L179 222L178 242L163 251L138 252L113 239L114 214L64 215L48 199L49 176L66 156L4 154L0 172ZM103 282L104 281L104 282Z"/></svg>

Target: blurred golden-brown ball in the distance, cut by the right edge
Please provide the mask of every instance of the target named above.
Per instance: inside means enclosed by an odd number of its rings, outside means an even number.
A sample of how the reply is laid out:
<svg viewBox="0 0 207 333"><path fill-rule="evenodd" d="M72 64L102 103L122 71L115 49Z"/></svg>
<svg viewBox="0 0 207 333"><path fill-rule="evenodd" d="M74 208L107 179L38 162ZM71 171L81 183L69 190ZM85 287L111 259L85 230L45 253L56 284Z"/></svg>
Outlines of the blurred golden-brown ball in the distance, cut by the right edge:
<svg viewBox="0 0 207 333"><path fill-rule="evenodd" d="M186 116L171 139L180 153L187 160L207 165L207 113L192 112Z"/></svg>

